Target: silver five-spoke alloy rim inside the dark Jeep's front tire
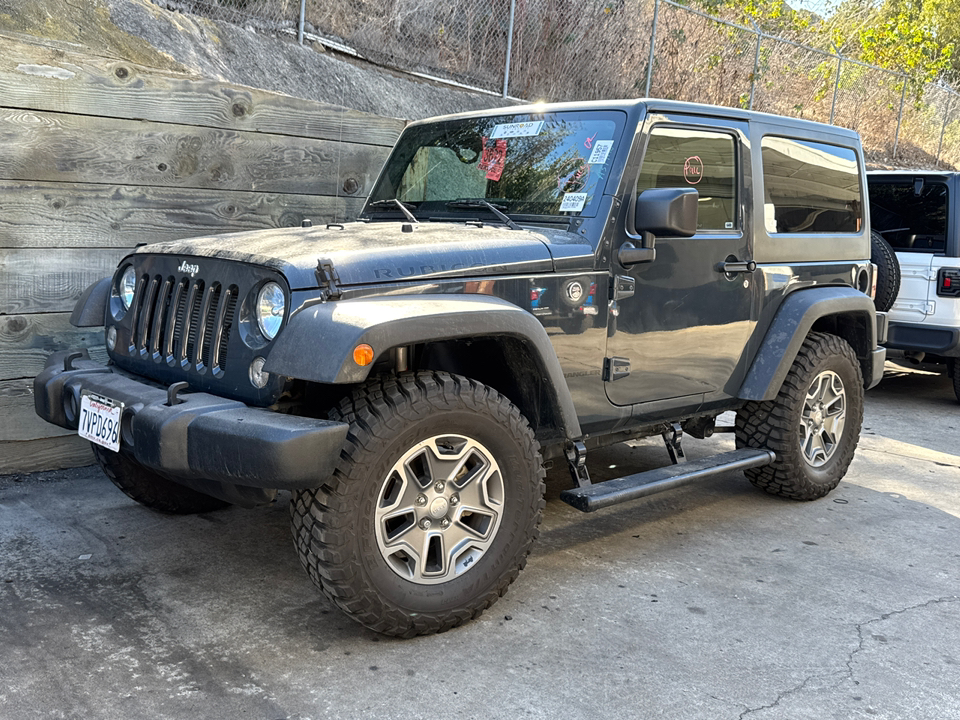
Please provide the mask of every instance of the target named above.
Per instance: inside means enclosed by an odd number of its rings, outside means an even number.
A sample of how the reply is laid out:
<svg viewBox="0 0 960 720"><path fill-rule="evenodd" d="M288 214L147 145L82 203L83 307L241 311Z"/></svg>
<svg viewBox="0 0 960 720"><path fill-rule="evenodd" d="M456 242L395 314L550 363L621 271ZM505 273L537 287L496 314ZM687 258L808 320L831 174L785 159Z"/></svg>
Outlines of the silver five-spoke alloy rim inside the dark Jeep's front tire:
<svg viewBox="0 0 960 720"><path fill-rule="evenodd" d="M465 435L436 435L397 460L377 493L377 545L400 577L447 582L476 566L500 528L503 475Z"/></svg>

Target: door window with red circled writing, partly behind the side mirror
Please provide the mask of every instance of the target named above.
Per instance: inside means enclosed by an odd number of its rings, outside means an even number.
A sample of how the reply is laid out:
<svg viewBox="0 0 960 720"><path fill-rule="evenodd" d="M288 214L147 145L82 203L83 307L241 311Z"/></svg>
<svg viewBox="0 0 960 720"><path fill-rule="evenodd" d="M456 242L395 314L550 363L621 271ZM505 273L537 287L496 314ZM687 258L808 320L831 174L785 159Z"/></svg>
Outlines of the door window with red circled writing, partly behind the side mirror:
<svg viewBox="0 0 960 720"><path fill-rule="evenodd" d="M650 188L691 187L700 193L697 230L736 229L736 147L736 140L726 133L654 127L637 193Z"/></svg>

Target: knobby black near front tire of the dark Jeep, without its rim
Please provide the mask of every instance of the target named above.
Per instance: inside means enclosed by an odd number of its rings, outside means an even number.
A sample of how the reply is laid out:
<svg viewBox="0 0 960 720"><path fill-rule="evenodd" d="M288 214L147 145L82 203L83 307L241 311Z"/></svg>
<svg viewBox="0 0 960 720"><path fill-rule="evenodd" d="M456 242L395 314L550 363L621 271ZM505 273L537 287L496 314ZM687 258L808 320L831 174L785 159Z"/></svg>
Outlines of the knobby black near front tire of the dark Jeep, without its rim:
<svg viewBox="0 0 960 720"><path fill-rule="evenodd" d="M333 475L295 492L294 544L313 582L347 615L413 637L478 617L526 564L544 507L540 446L526 418L493 388L442 372L369 381L330 413L350 424ZM503 503L489 549L453 579L400 577L381 553L374 517L383 479L410 448L446 433L477 438L501 469Z"/></svg>

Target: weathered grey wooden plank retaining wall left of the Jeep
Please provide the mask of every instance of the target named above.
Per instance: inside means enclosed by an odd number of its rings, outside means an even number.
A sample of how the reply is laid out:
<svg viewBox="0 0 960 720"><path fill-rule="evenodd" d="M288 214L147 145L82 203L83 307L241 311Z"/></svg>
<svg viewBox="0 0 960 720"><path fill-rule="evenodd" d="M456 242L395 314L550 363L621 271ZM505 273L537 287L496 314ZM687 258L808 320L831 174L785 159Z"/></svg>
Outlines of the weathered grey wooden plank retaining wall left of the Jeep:
<svg viewBox="0 0 960 720"><path fill-rule="evenodd" d="M32 378L137 243L349 219L402 120L0 34L0 474L92 462Z"/></svg>

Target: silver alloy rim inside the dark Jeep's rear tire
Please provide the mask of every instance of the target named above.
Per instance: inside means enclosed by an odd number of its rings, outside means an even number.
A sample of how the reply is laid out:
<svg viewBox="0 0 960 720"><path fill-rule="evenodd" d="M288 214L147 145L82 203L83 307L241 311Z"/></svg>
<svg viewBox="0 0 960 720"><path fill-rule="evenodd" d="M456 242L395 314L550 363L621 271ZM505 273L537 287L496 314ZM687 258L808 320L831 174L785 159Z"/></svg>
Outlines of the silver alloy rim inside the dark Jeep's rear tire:
<svg viewBox="0 0 960 720"><path fill-rule="evenodd" d="M840 445L847 416L847 393L833 370L810 383L800 417L800 449L813 467L825 465Z"/></svg>

